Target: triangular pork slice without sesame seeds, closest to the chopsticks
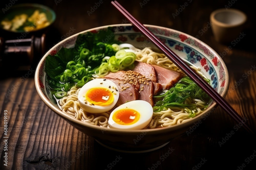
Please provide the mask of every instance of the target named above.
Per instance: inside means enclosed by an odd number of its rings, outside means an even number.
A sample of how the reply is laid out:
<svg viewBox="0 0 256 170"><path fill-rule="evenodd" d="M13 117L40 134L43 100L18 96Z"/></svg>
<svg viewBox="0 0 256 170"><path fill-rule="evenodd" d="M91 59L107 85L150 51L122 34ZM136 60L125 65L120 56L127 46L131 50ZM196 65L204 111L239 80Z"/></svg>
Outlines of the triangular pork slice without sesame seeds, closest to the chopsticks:
<svg viewBox="0 0 256 170"><path fill-rule="evenodd" d="M158 83L162 85L163 90L171 88L182 78L182 74L177 71L165 69L157 65L153 66L156 70Z"/></svg>

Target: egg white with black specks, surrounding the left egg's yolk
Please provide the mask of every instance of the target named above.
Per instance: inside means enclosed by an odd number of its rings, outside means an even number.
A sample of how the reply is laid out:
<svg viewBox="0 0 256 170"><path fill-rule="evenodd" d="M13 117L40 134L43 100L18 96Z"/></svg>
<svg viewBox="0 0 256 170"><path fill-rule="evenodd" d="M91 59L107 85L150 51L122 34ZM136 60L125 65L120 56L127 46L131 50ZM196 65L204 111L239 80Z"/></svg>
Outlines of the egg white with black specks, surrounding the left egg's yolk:
<svg viewBox="0 0 256 170"><path fill-rule="evenodd" d="M110 86L110 88L109 88ZM96 87L104 87L109 89L110 91L113 92L114 96L114 101L108 105L108 106L98 106L98 105L92 105L89 101L85 101L85 95L88 92L88 90ZM108 79L94 79L83 85L81 87L79 93L78 93L78 102L81 106L81 108L88 112L88 113L103 113L111 110L115 104L117 103L119 99L119 90L116 91L115 89L118 90L118 87L115 85L114 82L108 80ZM87 103L87 104L86 104Z"/></svg>

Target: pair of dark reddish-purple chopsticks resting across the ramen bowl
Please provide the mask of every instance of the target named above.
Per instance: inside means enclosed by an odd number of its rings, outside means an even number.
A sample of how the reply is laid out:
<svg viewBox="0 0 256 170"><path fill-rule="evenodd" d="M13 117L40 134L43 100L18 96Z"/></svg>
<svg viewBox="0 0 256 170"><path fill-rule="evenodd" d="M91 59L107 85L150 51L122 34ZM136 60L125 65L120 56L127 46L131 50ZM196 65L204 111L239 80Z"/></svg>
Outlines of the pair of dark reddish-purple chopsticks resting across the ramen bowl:
<svg viewBox="0 0 256 170"><path fill-rule="evenodd" d="M169 47L162 43L150 30L142 23L136 20L126 9L124 9L117 1L111 1L112 5L127 18L143 35L151 40L151 42L160 49L180 70L182 70L191 80L193 80L201 89L203 89L223 110L225 110L237 123L243 123L242 117L224 100L217 91L215 91L194 69L192 69L185 61L176 55ZM253 133L250 127L243 123L243 128ZM254 133L253 133L254 134Z"/></svg>

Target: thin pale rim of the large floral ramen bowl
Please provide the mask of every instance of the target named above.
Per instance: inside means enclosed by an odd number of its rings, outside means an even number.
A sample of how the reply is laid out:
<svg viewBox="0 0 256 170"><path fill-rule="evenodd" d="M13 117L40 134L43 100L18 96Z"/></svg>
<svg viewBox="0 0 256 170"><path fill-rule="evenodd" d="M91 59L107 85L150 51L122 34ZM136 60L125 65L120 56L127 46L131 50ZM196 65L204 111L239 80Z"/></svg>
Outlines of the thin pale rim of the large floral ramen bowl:
<svg viewBox="0 0 256 170"><path fill-rule="evenodd" d="M224 90L222 91L222 94L221 94L221 97L224 97L226 96L227 92L228 92L228 86L229 86L229 74L228 74L228 70L227 70L227 67L226 67L226 64L224 63L224 61L222 60L222 58L217 54L217 52L215 50L213 50L210 46L208 46L207 44L205 44L204 42L202 42L201 40L189 35L189 34L186 34L184 32L181 32L181 31L177 31L177 30L174 30L174 29L170 29L170 28L166 28L166 27L161 27L161 26L157 26L157 25L150 25L150 24L144 24L146 27L152 27L152 28L160 28L160 29L168 29L170 31L174 31L174 32L177 32L177 33L180 33L180 34L184 34L190 38L192 38L193 40L196 40L198 42L200 42L201 44L203 44L204 46L206 46L209 50L211 50L211 52L213 52L218 58L219 60L221 61L221 64L225 70L225 72L227 73L226 74L226 83L227 85L224 86ZM108 27L117 27L117 26L132 26L132 24L111 24L111 25L104 25L104 26L100 26L100 27L95 27L95 28L91 28L91 29L88 29L88 30L84 30L84 31L81 31L79 33L76 33L74 35L71 35L70 37L67 37L66 39L60 41L59 43L57 43L56 45L54 45L53 47L51 47L40 59L40 61L38 62L37 64L37 67L36 67L36 71L35 71L35 76L34 76L34 81L35 81L35 87L36 87L36 90L39 94L39 96L41 97L41 99L44 101L44 103L52 110L54 111L55 113L59 114L60 116L62 117L65 117L66 120L69 120L70 122L73 122L73 123L76 123L76 124L79 124L79 125L82 125L82 126L86 126L88 128L93 128L93 129L96 129L96 130L102 130L102 129L105 129L106 131L108 132L113 132L113 133L119 133L119 134L137 134L137 133L141 133L141 132L147 132L147 133L152 133L152 134L155 134L155 133L159 133L160 131L161 132L169 132L169 131L174 131L174 130L177 130L177 129L182 129L182 128L185 128L186 126L192 124L193 122L197 121L197 120L200 120L200 117L204 114L206 114L208 111L210 111L211 109L213 109L215 106L216 106L216 102L213 101L212 104L207 107L206 110L204 110L201 114L193 117L193 119L185 122L185 123L181 123L181 124L176 124L176 125L172 125L172 126L167 126L167 127L161 127L161 128L154 128L154 129L139 129L139 130L123 130L123 129L111 129L111 128L106 128L106 127L100 127L100 126L95 126L95 125L92 125L92 124L89 124L89 123L86 123L86 122L82 122L81 120L77 120L76 118L74 117L71 117L65 113L63 113L59 108L57 108L56 106L54 106L53 104L51 104L51 102L49 100L47 100L46 96L42 93L41 89L40 89L40 86L39 86L39 81L38 81L38 73L39 73L39 69L40 69L40 66L42 64L42 62L45 60L45 58L50 54L50 51L54 48L56 48L57 46L59 46L61 43L69 40L70 38L73 38L79 34L82 34L82 33L85 33L85 32L89 32L89 31L92 31L92 30L95 30L95 29L103 29L103 28L108 28ZM186 44L188 45L188 44Z"/></svg>

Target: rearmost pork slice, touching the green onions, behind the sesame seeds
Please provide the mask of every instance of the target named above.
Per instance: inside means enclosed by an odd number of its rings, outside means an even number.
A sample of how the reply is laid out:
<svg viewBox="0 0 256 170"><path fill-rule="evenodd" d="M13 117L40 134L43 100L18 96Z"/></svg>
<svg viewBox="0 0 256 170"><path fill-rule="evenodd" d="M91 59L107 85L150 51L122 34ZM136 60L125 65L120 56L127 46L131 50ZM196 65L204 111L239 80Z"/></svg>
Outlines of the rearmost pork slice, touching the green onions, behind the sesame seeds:
<svg viewBox="0 0 256 170"><path fill-rule="evenodd" d="M147 79L150 79L152 82L157 82L156 70L152 64L139 62L139 61L135 61L134 64L135 64L135 67L132 71L141 73Z"/></svg>

